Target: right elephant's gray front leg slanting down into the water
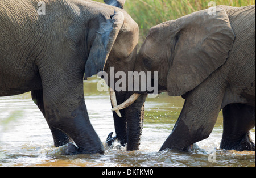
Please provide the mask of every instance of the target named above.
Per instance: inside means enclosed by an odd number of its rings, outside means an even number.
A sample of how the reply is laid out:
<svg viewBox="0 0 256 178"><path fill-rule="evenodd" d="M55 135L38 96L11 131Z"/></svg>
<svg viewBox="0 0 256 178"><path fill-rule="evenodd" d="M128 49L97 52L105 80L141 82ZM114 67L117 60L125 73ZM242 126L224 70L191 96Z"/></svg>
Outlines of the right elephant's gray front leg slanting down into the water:
<svg viewBox="0 0 256 178"><path fill-rule="evenodd" d="M187 151L193 143L208 138L216 123L224 96L224 88L208 79L189 92L172 133L161 150Z"/></svg>

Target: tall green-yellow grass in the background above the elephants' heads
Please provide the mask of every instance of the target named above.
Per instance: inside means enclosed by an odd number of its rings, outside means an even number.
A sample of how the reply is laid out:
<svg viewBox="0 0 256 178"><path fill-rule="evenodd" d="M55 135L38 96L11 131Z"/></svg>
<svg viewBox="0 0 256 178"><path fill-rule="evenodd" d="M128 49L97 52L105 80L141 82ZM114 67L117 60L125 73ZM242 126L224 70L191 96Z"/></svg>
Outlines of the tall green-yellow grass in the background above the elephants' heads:
<svg viewBox="0 0 256 178"><path fill-rule="evenodd" d="M97 0L103 2L103 0ZM125 10L139 25L140 44L149 29L156 24L177 19L192 12L207 9L212 0L126 0ZM216 5L248 6L255 5L255 0L216 0Z"/></svg>

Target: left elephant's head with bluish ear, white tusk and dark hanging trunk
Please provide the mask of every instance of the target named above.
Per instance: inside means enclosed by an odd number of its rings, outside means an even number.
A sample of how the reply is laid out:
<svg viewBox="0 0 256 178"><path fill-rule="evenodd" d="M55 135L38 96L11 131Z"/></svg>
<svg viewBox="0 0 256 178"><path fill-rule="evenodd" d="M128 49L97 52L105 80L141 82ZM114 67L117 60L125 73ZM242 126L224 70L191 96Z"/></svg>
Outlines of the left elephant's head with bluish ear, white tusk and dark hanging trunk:
<svg viewBox="0 0 256 178"><path fill-rule="evenodd" d="M122 71L127 74L128 71L134 70L139 38L138 24L122 9L125 0L105 0L105 3L108 5L104 5L106 9L104 14L95 20L97 21L96 29L92 28L93 30L88 35L88 38L92 39L92 44L85 65L85 79L100 71L105 71L109 79L111 77L110 67L114 67L115 73ZM111 88L113 83L110 82L115 83L117 80L108 80L113 107L123 103L131 95L130 92L117 92ZM127 143L127 150L137 150L139 146L141 133L139 125L143 120L141 111L143 110L144 98L146 97L141 97L137 104L134 103L133 106L124 111L113 112L116 138L121 141L122 145ZM133 112L130 112L129 109Z"/></svg>

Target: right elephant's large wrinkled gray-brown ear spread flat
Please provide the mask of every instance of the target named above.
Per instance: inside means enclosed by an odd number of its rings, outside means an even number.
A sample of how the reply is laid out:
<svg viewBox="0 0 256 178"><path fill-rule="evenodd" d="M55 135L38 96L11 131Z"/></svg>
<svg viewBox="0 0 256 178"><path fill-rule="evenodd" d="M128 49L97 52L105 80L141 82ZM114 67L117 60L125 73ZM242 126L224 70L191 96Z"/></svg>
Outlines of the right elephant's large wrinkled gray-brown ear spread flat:
<svg viewBox="0 0 256 178"><path fill-rule="evenodd" d="M211 15L212 14L212 15ZM234 42L226 12L202 10L174 21L175 48L167 76L168 95L180 96L193 90L223 65Z"/></svg>

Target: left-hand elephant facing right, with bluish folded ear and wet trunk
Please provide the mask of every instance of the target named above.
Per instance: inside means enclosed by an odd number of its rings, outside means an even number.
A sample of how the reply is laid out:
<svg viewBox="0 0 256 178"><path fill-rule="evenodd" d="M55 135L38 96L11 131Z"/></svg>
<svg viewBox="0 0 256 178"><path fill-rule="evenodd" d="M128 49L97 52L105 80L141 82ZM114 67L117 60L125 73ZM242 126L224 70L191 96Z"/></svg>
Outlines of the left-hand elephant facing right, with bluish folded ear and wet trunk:
<svg viewBox="0 0 256 178"><path fill-rule="evenodd" d="M0 1L0 96L32 91L32 99L51 129L55 146L73 140L66 154L104 153L86 111L83 79L110 66L133 71L138 25L122 9L125 1L46 0L46 15L38 1ZM114 7L115 5L117 7ZM129 92L117 94L118 104ZM137 150L143 103L113 113L117 138L127 150ZM100 108L99 108L100 109ZM133 106L130 107L133 109ZM126 118L127 119L126 123ZM127 127L126 127L127 125ZM135 135L133 137L133 135Z"/></svg>

